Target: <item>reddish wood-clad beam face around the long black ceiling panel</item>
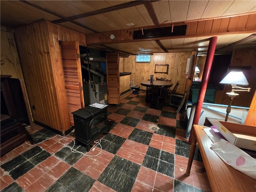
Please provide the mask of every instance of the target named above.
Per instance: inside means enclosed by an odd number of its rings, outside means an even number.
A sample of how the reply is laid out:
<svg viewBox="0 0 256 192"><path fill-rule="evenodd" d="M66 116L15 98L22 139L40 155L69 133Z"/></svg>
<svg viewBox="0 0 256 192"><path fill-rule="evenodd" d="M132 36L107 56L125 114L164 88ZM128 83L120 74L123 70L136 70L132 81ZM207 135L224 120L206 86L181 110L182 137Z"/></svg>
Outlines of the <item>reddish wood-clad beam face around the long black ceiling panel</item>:
<svg viewBox="0 0 256 192"><path fill-rule="evenodd" d="M246 24L239 24L238 22L241 20L245 20L245 16L236 16L236 17L225 17L221 19L212 19L212 20L200 20L200 21L190 21L190 22L180 22L175 24L184 25L187 24L188 28L186 31L186 35L184 36L168 36L168 37L160 37L160 38L145 38L145 39L133 39L134 30L138 30L138 28L127 29L129 31L130 36L126 36L124 30L116 30L116 31L108 31L108 32L100 32L100 33L90 33L86 34L86 44L89 45L102 45L102 44L112 44L112 43L125 43L125 42L139 42L139 41L148 41L148 40L164 40L164 39L177 39L177 38L192 38L192 37L209 37L209 36L220 36L226 34L244 34L244 33L255 33L256 24L255 18L256 14L250 14L248 19L246 20ZM238 23L235 24L234 23ZM172 24L163 24L159 27L168 27L172 26ZM241 26L245 26L244 29ZM143 27L143 29L156 28L156 26L147 26ZM113 33L116 35L115 40L110 40L109 35Z"/></svg>

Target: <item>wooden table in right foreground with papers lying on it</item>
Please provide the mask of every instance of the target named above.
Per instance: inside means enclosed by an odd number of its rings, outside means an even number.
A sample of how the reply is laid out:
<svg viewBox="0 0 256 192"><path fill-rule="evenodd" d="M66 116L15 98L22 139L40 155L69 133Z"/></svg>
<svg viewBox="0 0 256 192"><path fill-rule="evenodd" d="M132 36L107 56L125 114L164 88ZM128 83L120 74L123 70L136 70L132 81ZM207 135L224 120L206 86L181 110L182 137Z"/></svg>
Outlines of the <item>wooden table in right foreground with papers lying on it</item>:
<svg viewBox="0 0 256 192"><path fill-rule="evenodd" d="M193 127L195 136L192 138L186 174L190 173L195 152L194 148L196 142L198 142L212 192L256 191L256 180L226 164L210 149L212 141L204 132L204 126L193 125Z"/></svg>

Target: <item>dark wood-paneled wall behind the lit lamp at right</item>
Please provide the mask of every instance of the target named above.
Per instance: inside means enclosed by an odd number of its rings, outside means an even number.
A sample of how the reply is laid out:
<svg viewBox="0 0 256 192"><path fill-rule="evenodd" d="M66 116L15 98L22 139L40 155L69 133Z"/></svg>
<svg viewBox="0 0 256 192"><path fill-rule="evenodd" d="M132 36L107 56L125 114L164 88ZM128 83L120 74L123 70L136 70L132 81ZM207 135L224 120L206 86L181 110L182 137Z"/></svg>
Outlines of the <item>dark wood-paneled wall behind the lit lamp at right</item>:
<svg viewBox="0 0 256 192"><path fill-rule="evenodd" d="M249 83L251 92L237 92L239 96L236 96L232 102L234 106L250 107L254 92L256 90L256 49L253 50L235 50L232 54L230 63L230 69L239 70L240 66L249 66L250 70L242 70ZM237 68L236 68L237 67ZM215 103L228 104L228 96L226 92L231 91L231 86L225 85L224 90L218 90L215 96Z"/></svg>

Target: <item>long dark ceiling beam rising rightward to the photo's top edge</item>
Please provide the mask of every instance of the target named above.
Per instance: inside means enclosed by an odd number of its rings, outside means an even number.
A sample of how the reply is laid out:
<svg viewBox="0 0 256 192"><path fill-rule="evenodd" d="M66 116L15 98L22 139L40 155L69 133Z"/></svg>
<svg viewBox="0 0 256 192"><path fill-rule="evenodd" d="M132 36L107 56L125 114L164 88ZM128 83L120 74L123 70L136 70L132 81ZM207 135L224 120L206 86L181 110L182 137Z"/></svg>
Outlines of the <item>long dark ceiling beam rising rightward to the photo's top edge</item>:
<svg viewBox="0 0 256 192"><path fill-rule="evenodd" d="M158 0L152 0L151 2L155 2L155 1L158 1ZM103 8L103 9L100 9L100 10L91 11L91 12L88 12L88 13L82 13L82 14L70 16L70 17L67 17L67 18L54 20L54 21L52 21L52 23L57 24L57 23L67 22L67 21L76 20L76 19L85 18L85 17L90 17L90 16L103 14L103 13L107 13L107 12L111 12L111 11L116 11L116 10L125 9L125 8L129 8L129 7L134 7L134 6L138 6L138 5L142 5L142 4L144 4L144 1L136 0L136 1L128 2L128 3L116 5L116 6Z"/></svg>

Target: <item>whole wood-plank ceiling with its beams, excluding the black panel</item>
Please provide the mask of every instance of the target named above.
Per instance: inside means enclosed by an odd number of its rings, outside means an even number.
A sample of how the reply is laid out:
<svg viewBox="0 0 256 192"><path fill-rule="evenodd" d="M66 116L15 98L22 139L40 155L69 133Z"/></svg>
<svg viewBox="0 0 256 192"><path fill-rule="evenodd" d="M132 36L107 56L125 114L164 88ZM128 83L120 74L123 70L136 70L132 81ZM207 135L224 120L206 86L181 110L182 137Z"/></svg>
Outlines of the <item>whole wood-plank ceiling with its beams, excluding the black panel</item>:
<svg viewBox="0 0 256 192"><path fill-rule="evenodd" d="M90 47L124 54L191 51L205 54L212 36L218 36L216 52L256 48L255 0L0 1L0 8L1 25L16 27L49 20L86 34ZM221 22L215 30L218 21ZM132 38L134 30L172 25L187 25L186 35ZM124 31L130 37L122 38ZM108 39L111 33L117 36L113 41Z"/></svg>

